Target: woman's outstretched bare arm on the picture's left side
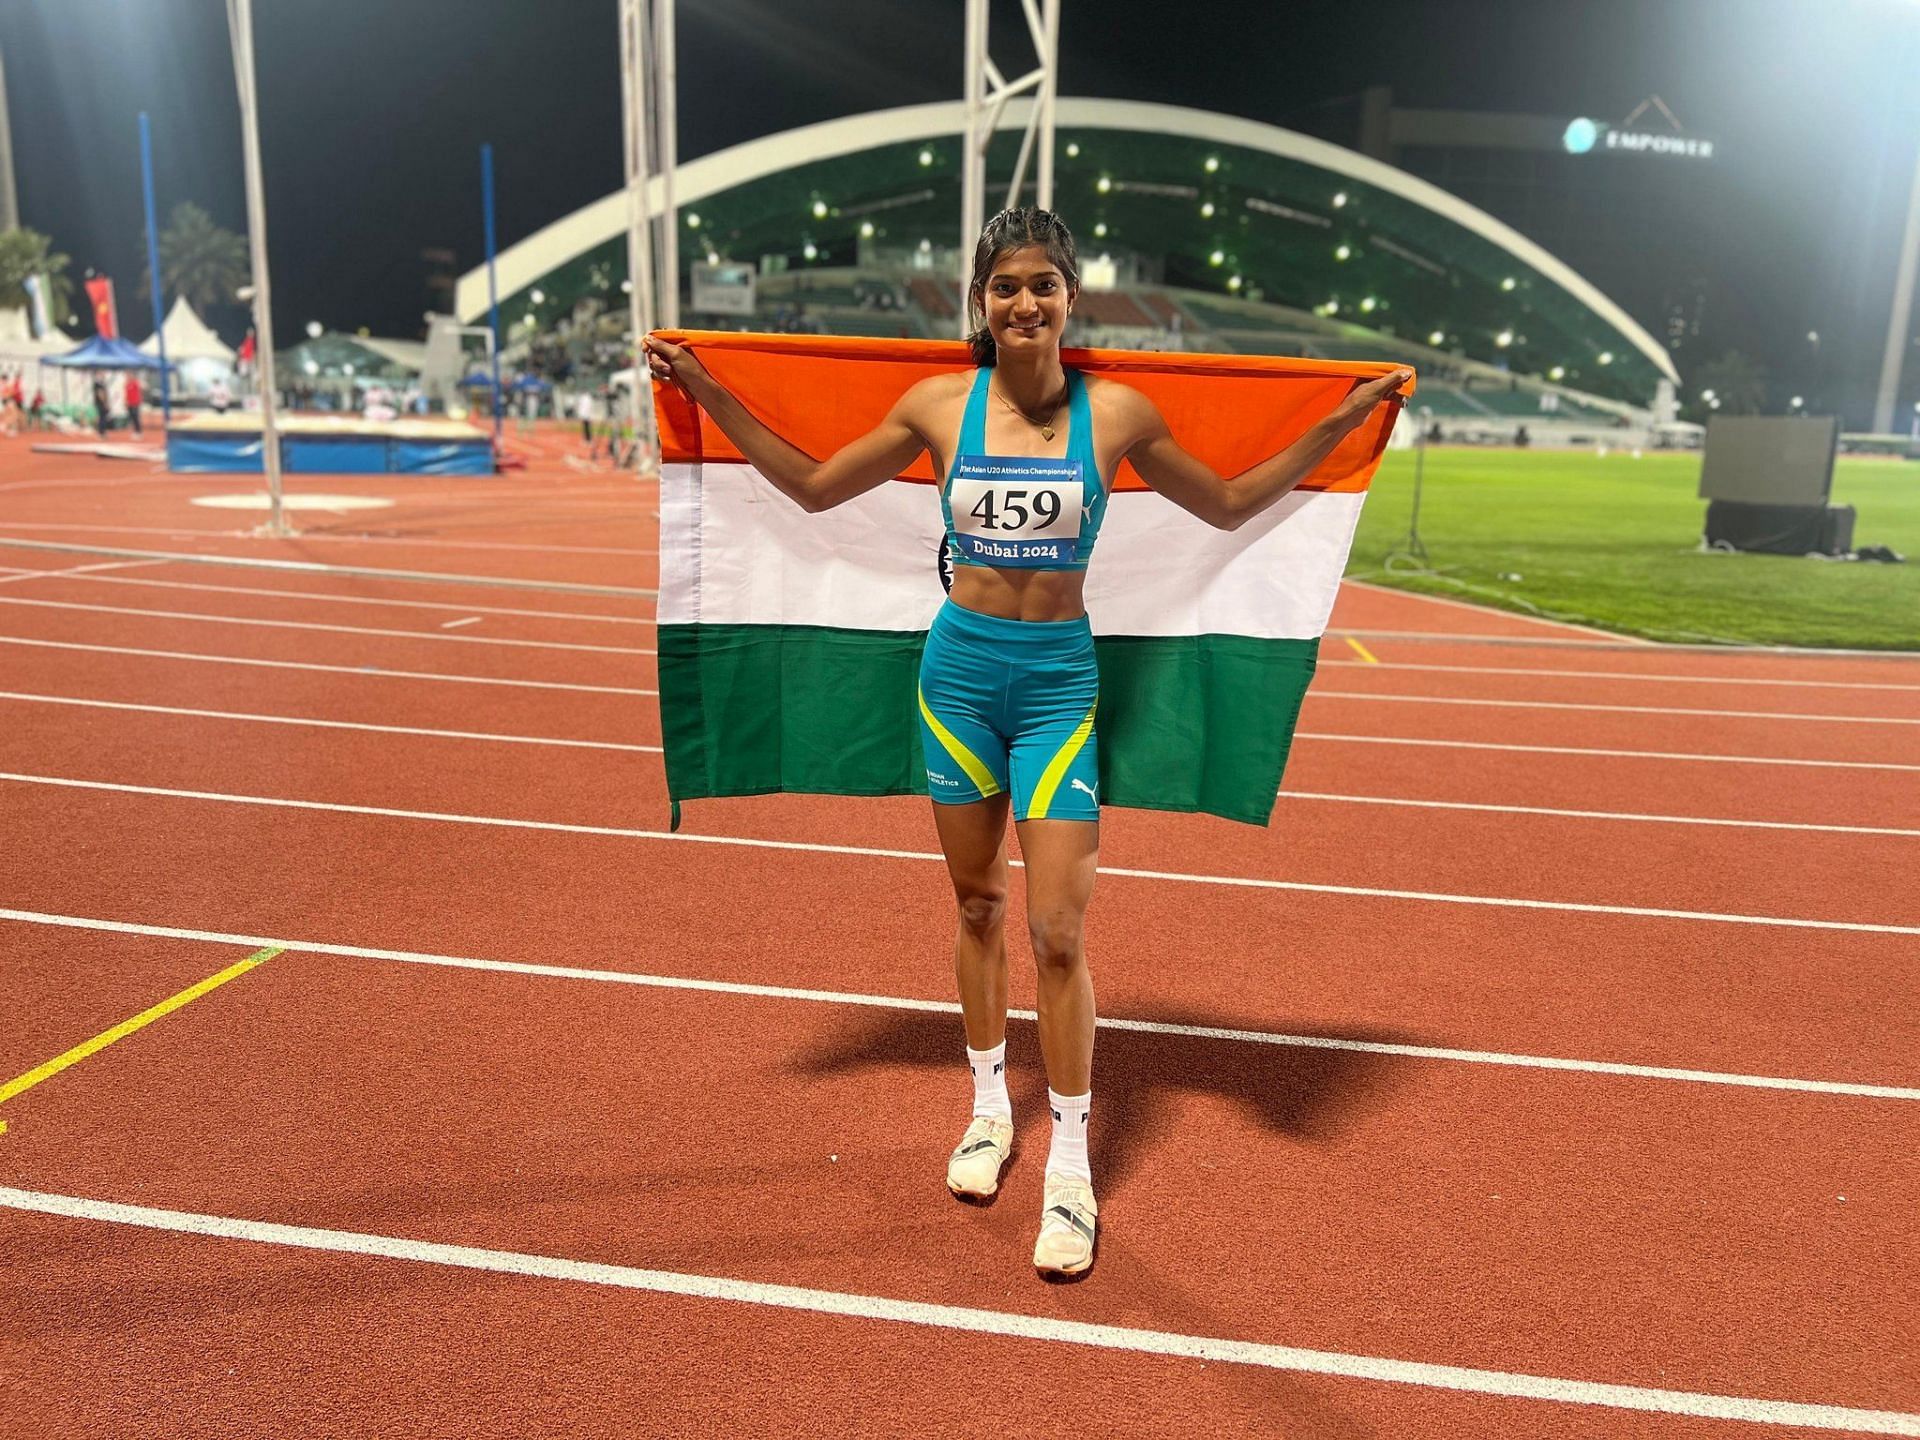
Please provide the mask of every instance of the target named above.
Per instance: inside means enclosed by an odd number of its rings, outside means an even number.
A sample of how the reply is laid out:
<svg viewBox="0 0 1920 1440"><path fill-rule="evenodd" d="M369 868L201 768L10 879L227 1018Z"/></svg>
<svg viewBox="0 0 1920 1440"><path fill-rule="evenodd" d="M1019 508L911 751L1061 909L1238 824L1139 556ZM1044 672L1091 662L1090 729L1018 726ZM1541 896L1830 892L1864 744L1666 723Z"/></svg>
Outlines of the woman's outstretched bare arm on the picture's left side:
<svg viewBox="0 0 1920 1440"><path fill-rule="evenodd" d="M887 411L887 419L858 440L841 445L826 461L818 461L799 445L776 436L755 419L733 394L714 380L699 357L685 346L674 346L659 336L647 336L647 369L660 380L684 388L726 432L755 470L774 482L774 488L803 511L828 511L876 486L883 486L920 459L927 447L918 417L920 386L908 390Z"/></svg>

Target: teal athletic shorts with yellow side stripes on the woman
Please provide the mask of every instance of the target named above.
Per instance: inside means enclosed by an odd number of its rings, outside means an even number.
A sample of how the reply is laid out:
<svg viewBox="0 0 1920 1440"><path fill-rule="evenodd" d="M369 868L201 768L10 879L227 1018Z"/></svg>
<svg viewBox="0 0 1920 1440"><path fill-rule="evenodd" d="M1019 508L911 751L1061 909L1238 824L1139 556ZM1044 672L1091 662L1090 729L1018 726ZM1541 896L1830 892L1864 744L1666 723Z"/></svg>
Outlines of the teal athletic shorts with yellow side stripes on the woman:
<svg viewBox="0 0 1920 1440"><path fill-rule="evenodd" d="M1092 628L1002 620L952 601L920 660L920 735L937 804L1012 795L1016 820L1098 820Z"/></svg>

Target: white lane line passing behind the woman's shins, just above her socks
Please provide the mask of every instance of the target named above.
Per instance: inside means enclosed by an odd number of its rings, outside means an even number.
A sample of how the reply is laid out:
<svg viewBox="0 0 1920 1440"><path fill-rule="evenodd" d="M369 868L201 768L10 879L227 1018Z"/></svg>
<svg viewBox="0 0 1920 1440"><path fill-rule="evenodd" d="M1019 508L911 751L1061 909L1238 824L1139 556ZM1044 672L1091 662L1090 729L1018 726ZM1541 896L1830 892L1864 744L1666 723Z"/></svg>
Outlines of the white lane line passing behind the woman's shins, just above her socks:
<svg viewBox="0 0 1920 1440"><path fill-rule="evenodd" d="M582 966L543 966L518 960L478 960L463 954L432 954L424 950L386 950L367 945L332 945L324 941L263 939L217 929L184 929L177 925L140 925L127 920L94 920L38 910L0 910L0 922L88 929L111 935L146 935L171 941L209 945L238 945L244 948L275 947L296 954L328 954L348 960L392 960L409 966L442 966L447 970L482 970L505 975L540 975L543 979L578 979L605 985L643 985L657 991L701 991L707 995L735 995L755 1000L799 1000L804 1004L866 1006L874 1010L916 1010L958 1016L954 1000L922 1000L904 995L862 995L858 991L810 991L791 985L753 985L728 979L693 979L687 975L649 975L632 970L588 970ZM1031 1021L1031 1010L1008 1010L1014 1020ZM1405 1060L1440 1060L1469 1066L1507 1066L1515 1069L1557 1069L1584 1075L1620 1075L1628 1079L1661 1079L1688 1085L1732 1085L1749 1091L1797 1091L1803 1094L1847 1094L1866 1100L1914 1100L1920 1089L1907 1085L1866 1085L1859 1081L1795 1079L1786 1075L1745 1075L1726 1069L1692 1069L1680 1066L1634 1066L1619 1060L1578 1060L1569 1056L1507 1054L1501 1050L1461 1050L1440 1044L1402 1044L1394 1041L1346 1041L1331 1035L1288 1035L1284 1031L1229 1029L1221 1025L1181 1025L1164 1020L1125 1020L1100 1016L1100 1029L1123 1029L1140 1035L1173 1035L1194 1041L1223 1041L1229 1044L1277 1044L1300 1050L1346 1050L1352 1054L1382 1054Z"/></svg>

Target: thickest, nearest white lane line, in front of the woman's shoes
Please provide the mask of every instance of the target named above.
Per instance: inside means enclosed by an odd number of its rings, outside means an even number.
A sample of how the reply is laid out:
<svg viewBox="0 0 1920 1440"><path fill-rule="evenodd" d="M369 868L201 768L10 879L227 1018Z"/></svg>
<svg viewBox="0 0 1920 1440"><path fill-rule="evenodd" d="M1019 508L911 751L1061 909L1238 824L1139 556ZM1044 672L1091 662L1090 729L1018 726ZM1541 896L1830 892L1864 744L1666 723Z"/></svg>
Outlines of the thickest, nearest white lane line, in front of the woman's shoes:
<svg viewBox="0 0 1920 1440"><path fill-rule="evenodd" d="M1753 1396L1703 1394L1695 1390L1655 1390L1638 1384L1609 1384L1574 1380L1551 1375L1519 1375L1513 1371L1475 1369L1467 1365L1428 1365L1413 1359L1357 1356L1340 1350L1304 1350L1300 1346L1229 1340L1175 1331L1142 1331L1127 1325L1094 1325L1089 1321L1027 1315L972 1306L941 1306L922 1300L893 1300L889 1296L851 1294L843 1290L810 1290L795 1284L739 1281L724 1275L689 1275L682 1271L639 1269L589 1260L526 1254L520 1250L482 1250L465 1244L413 1240L365 1231L328 1231L307 1225L280 1225L232 1215L205 1215L188 1210L159 1210L113 1200L48 1194L0 1187L0 1206L10 1210L61 1215L67 1219L136 1225L173 1235L202 1235L219 1240L246 1240L298 1250L324 1250L348 1256L372 1256L417 1265L445 1265L453 1269L520 1275L541 1281L568 1281L620 1290L684 1296L687 1300L724 1300L770 1309L839 1315L893 1325L922 1325L970 1334L995 1334L1014 1340L1117 1350L1142 1356L1173 1356L1229 1365L1250 1365L1271 1371L1331 1375L1350 1380L1384 1384L1417 1384L1428 1390L1540 1400L1559 1405L1603 1405L1609 1409L1657 1415L1692 1415L1701 1419L1745 1421L1749 1425L1797 1425L1818 1430L1853 1430L1866 1434L1920 1436L1920 1415L1891 1409L1855 1409L1847 1405L1816 1405L1795 1400L1761 1400Z"/></svg>

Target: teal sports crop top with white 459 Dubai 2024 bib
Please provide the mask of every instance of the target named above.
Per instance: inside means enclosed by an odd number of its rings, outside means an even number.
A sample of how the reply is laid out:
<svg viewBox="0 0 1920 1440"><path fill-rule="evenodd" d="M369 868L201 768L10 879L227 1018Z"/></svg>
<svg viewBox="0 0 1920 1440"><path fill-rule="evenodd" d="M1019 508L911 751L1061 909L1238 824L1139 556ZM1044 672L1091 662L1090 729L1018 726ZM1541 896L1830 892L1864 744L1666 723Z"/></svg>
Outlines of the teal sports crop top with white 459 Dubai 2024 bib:
<svg viewBox="0 0 1920 1440"><path fill-rule="evenodd" d="M985 365L973 372L960 447L941 486L947 555L954 564L1085 570L1106 518L1087 380L1068 371L1068 453L1060 459L987 453L991 380Z"/></svg>

